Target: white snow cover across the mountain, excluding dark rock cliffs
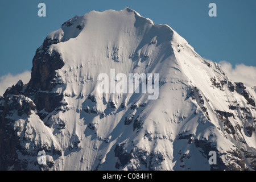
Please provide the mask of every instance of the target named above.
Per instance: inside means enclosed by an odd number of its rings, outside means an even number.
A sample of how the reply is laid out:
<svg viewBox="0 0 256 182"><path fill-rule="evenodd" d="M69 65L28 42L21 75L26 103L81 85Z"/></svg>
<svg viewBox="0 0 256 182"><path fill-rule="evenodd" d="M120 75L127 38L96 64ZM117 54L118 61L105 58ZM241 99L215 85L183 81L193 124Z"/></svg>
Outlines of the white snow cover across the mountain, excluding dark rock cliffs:
<svg viewBox="0 0 256 182"><path fill-rule="evenodd" d="M196 140L211 143L217 154L223 154L219 158L224 164L233 160L229 151L255 152L255 131L250 137L244 130L255 123L241 119L242 111L230 106L239 104L254 118L255 107L231 92L228 82L235 84L220 66L200 57L171 27L154 24L129 8L92 11L67 22L47 36L59 42L47 53L57 51L64 61L52 90L64 94L64 105L52 113L41 111L48 114L43 121L32 112L28 118L17 116L15 122L15 127L27 127L24 133L30 133L31 143L62 151L61 156L47 153L55 163L51 169L209 170L208 154L196 147ZM110 69L126 75L159 73L159 98L148 100L148 93L98 93L97 76L110 75ZM226 83L217 88L213 78L220 85ZM255 100L253 89L247 89ZM189 95L192 90L194 99ZM227 132L216 110L233 113L228 119L235 134ZM131 123L125 125L127 119ZM130 156L119 166L118 144ZM30 143L22 145L33 150Z"/></svg>

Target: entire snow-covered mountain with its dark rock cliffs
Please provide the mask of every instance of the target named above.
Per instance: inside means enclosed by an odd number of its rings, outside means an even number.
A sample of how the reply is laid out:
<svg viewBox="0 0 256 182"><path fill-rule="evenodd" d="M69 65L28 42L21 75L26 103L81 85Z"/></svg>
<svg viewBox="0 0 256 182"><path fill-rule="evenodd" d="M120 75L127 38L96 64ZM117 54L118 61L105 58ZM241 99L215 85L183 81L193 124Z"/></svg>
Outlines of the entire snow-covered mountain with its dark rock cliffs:
<svg viewBox="0 0 256 182"><path fill-rule="evenodd" d="M117 92L118 74L136 73L152 77ZM255 98L171 27L129 8L92 11L51 32L28 84L0 98L0 169L255 170Z"/></svg>

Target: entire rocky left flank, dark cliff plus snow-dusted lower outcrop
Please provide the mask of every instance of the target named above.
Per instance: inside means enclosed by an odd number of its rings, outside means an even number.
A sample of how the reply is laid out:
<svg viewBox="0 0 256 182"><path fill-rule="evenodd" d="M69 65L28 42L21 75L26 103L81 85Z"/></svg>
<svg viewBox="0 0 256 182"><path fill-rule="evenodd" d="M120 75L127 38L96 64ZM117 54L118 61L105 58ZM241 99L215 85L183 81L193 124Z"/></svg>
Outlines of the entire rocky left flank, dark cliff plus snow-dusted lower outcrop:
<svg viewBox="0 0 256 182"><path fill-rule="evenodd" d="M54 164L52 156L48 156L49 166L30 167L30 165L37 162L38 152L42 150L53 155L61 155L60 148L58 150L52 142L43 143L44 139L40 139L40 133L38 133L40 130L37 129L40 126L29 124L30 118L35 117L38 122L41 122L39 125L44 125L41 119L45 115L40 111L53 111L61 105L60 101L63 99L62 94L51 92L56 86L51 82L56 77L55 71L64 64L59 53L56 52L53 55L46 53L47 48L53 43L46 39L43 46L36 50L30 82L24 85L20 80L7 89L1 98L0 164L2 170L50 169ZM37 137L39 139L36 139Z"/></svg>

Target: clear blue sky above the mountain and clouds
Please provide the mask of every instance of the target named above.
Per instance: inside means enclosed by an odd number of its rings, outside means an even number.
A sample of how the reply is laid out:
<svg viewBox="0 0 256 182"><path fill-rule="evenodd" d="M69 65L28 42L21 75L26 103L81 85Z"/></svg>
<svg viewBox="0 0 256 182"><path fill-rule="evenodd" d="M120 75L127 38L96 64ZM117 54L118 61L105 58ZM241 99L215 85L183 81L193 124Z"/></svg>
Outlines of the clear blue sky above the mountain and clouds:
<svg viewBox="0 0 256 182"><path fill-rule="evenodd" d="M38 4L46 4L46 17L38 16ZM217 5L210 17L209 3ZM31 71L32 59L44 38L75 15L125 7L155 24L168 24L202 57L219 62L256 66L255 0L2 0L0 6L0 77Z"/></svg>

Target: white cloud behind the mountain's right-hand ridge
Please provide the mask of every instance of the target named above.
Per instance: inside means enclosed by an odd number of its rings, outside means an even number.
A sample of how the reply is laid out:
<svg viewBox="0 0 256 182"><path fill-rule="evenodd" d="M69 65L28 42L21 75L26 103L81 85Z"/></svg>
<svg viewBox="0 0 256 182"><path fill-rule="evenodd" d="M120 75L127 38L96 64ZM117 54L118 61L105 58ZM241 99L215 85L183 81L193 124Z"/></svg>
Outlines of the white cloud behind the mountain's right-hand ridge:
<svg viewBox="0 0 256 182"><path fill-rule="evenodd" d="M256 67L237 64L234 68L228 61L220 61L221 69L234 82L243 82L246 86L256 86Z"/></svg>

